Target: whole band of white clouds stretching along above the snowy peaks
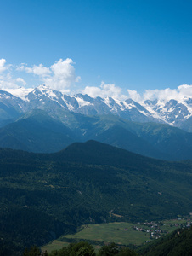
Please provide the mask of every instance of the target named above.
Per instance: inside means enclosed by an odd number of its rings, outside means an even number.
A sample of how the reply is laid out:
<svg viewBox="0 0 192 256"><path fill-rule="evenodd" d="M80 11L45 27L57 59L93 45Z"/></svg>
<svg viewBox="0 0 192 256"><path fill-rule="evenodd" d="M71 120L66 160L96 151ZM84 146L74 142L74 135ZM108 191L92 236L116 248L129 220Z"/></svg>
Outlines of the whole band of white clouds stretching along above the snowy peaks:
<svg viewBox="0 0 192 256"><path fill-rule="evenodd" d="M5 59L0 59L0 89L10 90L20 86L27 89L29 84L27 84L23 77L31 76L32 79L39 81L38 85L46 84L54 90L70 94L71 87L81 79L79 76L76 77L74 65L75 63L71 58L59 59L59 61L55 61L49 67L45 67L42 64L33 65L32 67L28 67L27 64L14 66L7 64ZM22 74L24 74L23 77ZM121 101L132 98L135 102L139 103L155 99L159 101L175 99L178 102L183 102L185 97L192 98L192 85L189 84L179 85L176 89L144 90L143 94L139 94L137 90L127 89L126 93L122 93L122 91L121 87L116 86L116 84L105 84L102 81L99 86L79 88L76 93L82 92L92 97L113 97Z"/></svg>

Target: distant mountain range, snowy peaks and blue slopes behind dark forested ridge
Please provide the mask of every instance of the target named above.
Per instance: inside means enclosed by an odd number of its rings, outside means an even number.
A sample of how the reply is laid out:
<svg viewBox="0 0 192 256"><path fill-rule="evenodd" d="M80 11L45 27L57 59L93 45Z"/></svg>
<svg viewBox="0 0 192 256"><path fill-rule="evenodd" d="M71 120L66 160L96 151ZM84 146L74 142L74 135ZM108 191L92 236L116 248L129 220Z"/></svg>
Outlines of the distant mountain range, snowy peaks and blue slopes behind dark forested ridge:
<svg viewBox="0 0 192 256"><path fill-rule="evenodd" d="M178 121L167 125L155 119L132 100L66 96L45 85L19 92L0 91L0 147L53 153L71 143L96 140L161 160L192 159L192 133L175 127ZM183 125L190 124L189 108L187 113L182 113Z"/></svg>

